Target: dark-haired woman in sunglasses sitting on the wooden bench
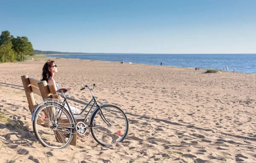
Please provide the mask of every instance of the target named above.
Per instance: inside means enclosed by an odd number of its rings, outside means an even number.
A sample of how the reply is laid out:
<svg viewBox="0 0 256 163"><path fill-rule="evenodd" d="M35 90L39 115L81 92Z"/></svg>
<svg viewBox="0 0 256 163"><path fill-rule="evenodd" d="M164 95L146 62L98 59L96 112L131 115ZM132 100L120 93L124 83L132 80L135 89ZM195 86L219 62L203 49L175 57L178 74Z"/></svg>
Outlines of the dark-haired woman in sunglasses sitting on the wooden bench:
<svg viewBox="0 0 256 163"><path fill-rule="evenodd" d="M58 70L55 62L51 60L47 60L47 62L44 64L44 67L43 67L43 73L42 73L43 79L41 81L45 80L47 83L52 84L56 92L60 88L60 86L54 80L54 74L57 72ZM58 98L61 99L60 96L58 96ZM65 108L69 110L67 107L67 104L65 104ZM80 113L80 110L76 107L70 106L70 109L73 113Z"/></svg>

